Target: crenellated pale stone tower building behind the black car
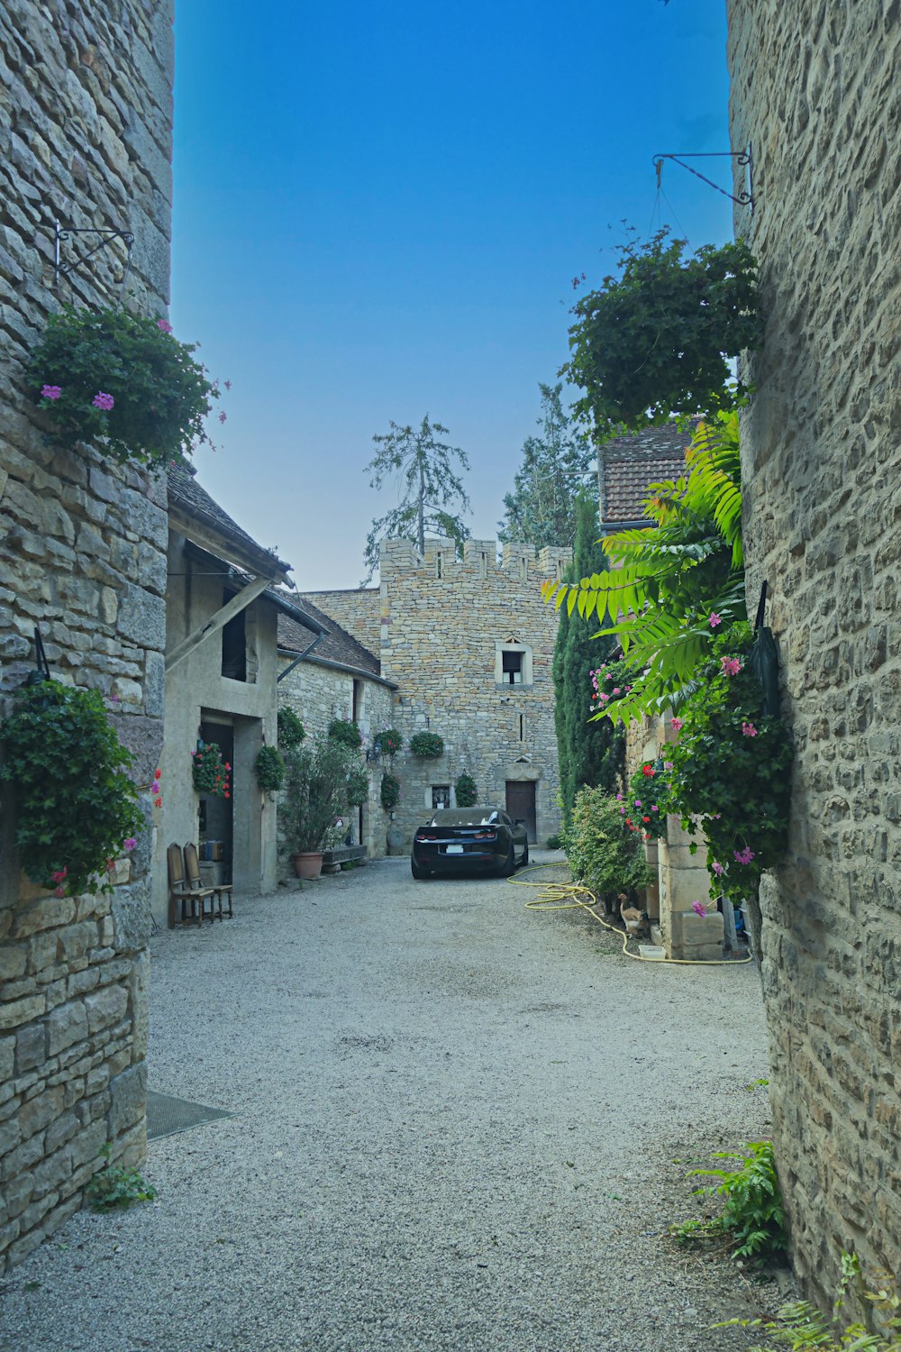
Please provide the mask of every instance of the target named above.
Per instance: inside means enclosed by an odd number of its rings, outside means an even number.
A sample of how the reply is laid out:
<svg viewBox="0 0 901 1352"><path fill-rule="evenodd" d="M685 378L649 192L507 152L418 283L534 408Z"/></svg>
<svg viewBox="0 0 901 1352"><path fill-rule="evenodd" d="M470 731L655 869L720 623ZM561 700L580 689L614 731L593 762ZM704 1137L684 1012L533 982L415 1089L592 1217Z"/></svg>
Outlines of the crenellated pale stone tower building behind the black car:
<svg viewBox="0 0 901 1352"><path fill-rule="evenodd" d="M377 853L389 830L393 848L408 850L424 814L454 804L463 771L481 802L505 804L527 822L530 840L559 829L557 615L540 583L561 577L570 558L569 549L536 556L531 545L508 544L498 565L493 539L466 541L462 560L453 541L427 541L423 557L409 541L386 539L378 588L304 598L377 653L382 679L396 685L388 726L404 738L390 767L401 798L393 815L380 810ZM427 730L443 740L438 760L409 750L411 737Z"/></svg>

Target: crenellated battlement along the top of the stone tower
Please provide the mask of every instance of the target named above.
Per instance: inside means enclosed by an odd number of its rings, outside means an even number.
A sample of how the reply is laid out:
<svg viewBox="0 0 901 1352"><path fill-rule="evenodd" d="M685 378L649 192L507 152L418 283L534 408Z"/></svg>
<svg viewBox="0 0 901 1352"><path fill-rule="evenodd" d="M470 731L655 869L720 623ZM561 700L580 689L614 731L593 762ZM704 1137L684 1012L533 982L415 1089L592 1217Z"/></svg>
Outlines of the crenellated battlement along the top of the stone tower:
<svg viewBox="0 0 901 1352"><path fill-rule="evenodd" d="M523 580L546 577L559 580L573 561L573 550L561 545L546 545L535 550L535 545L505 542L501 561L497 561L496 539L467 539L463 542L463 557L459 558L453 539L442 535L426 538L426 554L420 554L412 539L382 539L378 548L381 580L398 572L421 571L430 577L446 577L459 573L505 573Z"/></svg>

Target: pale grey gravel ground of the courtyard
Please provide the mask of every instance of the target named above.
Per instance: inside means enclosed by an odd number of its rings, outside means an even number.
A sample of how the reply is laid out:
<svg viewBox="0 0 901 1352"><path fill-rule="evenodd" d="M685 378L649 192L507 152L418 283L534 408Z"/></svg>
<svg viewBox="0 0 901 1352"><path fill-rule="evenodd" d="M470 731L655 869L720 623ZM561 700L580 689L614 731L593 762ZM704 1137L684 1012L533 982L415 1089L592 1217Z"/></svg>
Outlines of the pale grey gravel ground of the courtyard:
<svg viewBox="0 0 901 1352"><path fill-rule="evenodd" d="M385 860L154 938L151 1087L236 1115L7 1275L1 1352L747 1348L774 1283L665 1232L766 1136L756 972L534 895Z"/></svg>

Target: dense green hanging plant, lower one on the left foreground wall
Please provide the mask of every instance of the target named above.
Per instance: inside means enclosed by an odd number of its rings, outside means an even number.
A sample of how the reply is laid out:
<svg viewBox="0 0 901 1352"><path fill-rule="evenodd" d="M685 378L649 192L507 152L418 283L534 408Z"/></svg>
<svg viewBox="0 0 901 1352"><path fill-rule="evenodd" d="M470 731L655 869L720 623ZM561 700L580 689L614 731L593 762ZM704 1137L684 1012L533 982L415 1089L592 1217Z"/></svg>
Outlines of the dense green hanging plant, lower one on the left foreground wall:
<svg viewBox="0 0 901 1352"><path fill-rule="evenodd" d="M124 773L119 742L96 690L55 680L15 692L3 725L8 779L16 795L22 867L41 887L76 896L103 882L112 861L143 830L138 790Z"/></svg>

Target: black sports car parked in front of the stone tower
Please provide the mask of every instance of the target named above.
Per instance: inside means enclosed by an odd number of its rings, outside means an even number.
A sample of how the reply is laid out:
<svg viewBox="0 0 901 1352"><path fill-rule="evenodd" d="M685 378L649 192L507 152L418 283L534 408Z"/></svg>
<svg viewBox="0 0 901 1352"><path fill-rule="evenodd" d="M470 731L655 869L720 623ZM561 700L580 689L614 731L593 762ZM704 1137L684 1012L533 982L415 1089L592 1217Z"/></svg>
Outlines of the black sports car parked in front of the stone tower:
<svg viewBox="0 0 901 1352"><path fill-rule="evenodd" d="M444 807L413 836L413 877L490 869L512 873L528 864L528 834L500 807Z"/></svg>

